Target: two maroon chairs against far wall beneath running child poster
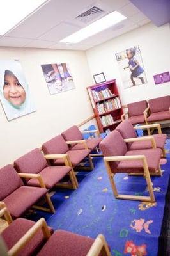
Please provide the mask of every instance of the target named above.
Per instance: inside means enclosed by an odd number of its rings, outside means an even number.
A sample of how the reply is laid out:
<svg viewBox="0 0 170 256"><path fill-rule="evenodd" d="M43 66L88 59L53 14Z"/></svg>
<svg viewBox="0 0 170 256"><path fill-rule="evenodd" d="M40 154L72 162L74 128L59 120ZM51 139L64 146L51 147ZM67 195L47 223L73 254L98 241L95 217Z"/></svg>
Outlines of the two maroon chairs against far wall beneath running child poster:
<svg viewBox="0 0 170 256"><path fill-rule="evenodd" d="M150 124L153 122L160 122L162 120L170 120L170 96L158 97L139 102L130 103L127 105L128 111L122 116L121 120L128 120L135 124Z"/></svg>

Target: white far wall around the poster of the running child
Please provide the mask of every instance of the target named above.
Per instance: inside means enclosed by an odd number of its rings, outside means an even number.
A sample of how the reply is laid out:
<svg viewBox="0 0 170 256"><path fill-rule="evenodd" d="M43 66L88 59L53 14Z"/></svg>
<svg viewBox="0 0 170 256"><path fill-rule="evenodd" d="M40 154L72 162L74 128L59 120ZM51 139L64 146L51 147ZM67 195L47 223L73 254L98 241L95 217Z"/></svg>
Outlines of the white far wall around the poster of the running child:
<svg viewBox="0 0 170 256"><path fill-rule="evenodd" d="M121 52L139 45L148 83L124 89L115 58ZM86 51L91 74L104 72L107 80L117 79L122 104L151 99L170 93L170 83L155 85L153 75L170 71L169 24L157 28L149 23Z"/></svg>

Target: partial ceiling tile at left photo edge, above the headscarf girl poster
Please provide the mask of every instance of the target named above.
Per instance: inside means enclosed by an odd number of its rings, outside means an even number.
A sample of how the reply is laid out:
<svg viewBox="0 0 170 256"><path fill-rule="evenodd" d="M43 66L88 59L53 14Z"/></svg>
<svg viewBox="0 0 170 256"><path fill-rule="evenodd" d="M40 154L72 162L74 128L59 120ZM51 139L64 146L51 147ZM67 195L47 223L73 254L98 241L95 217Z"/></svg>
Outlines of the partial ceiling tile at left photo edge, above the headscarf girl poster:
<svg viewBox="0 0 170 256"><path fill-rule="evenodd" d="M2 36L0 38L0 46L4 47L23 47L29 42L31 42L31 40L23 38L13 38L8 36Z"/></svg>

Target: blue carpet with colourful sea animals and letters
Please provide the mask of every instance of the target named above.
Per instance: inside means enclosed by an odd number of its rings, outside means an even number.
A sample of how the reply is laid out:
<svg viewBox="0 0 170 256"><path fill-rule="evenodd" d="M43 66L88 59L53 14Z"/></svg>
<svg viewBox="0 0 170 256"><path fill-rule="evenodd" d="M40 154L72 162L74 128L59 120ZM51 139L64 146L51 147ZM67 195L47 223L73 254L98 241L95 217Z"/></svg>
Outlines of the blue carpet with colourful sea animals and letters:
<svg viewBox="0 0 170 256"><path fill-rule="evenodd" d="M167 142L168 149L170 140ZM169 182L170 154L167 154L167 163L161 166L162 177L151 177L156 204L114 199L102 157L93 162L92 172L79 172L79 189L57 189L52 196L56 214L37 211L29 218L38 220L43 216L54 230L63 229L94 238L102 233L114 256L156 256ZM118 174L116 186L120 193L148 195L143 177ZM137 254L139 252L142 253Z"/></svg>

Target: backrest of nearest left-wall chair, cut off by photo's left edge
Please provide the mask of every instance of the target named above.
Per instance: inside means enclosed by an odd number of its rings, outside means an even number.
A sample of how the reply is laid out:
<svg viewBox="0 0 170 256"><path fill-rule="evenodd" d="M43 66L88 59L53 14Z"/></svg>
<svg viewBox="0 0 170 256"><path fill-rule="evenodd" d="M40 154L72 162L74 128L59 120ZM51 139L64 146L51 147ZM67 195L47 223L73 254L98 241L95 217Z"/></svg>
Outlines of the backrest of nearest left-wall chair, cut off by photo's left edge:
<svg viewBox="0 0 170 256"><path fill-rule="evenodd" d="M12 164L8 164L0 169L0 200L3 200L23 185L22 179L20 179Z"/></svg>

